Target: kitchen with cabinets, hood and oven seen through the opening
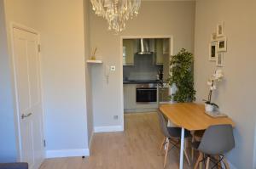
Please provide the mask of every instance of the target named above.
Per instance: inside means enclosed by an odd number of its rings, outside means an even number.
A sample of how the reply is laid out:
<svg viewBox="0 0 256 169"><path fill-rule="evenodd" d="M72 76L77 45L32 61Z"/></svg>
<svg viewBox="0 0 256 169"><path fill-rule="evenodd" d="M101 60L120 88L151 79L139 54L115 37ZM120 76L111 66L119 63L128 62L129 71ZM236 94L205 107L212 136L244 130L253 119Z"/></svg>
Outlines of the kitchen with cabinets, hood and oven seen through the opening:
<svg viewBox="0 0 256 169"><path fill-rule="evenodd" d="M172 37L123 38L124 112L155 111L170 101Z"/></svg>

